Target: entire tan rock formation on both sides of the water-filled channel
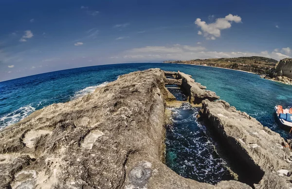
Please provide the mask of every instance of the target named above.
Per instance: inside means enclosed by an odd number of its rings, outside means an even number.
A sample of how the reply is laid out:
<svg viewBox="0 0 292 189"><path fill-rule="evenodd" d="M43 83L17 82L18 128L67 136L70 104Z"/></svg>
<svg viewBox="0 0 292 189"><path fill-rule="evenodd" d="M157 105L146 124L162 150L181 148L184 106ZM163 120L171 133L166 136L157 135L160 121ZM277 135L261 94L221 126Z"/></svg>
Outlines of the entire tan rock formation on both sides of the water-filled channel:
<svg viewBox="0 0 292 189"><path fill-rule="evenodd" d="M189 103L202 107L200 119L254 173L253 188L292 187L291 150L279 134L214 101L219 96L190 76L150 69L52 104L0 131L0 188L251 189L235 180L200 183L164 165L170 116L165 108L180 105L165 84L180 86Z"/></svg>

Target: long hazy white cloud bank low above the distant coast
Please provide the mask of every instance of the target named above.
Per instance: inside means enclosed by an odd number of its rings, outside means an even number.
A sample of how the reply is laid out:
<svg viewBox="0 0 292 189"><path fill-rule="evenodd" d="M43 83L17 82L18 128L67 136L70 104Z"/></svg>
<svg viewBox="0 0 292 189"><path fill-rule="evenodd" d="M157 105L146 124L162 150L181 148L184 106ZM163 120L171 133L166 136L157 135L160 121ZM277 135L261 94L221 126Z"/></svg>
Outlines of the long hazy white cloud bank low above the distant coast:
<svg viewBox="0 0 292 189"><path fill-rule="evenodd" d="M290 56L278 52L262 51L259 53L253 52L219 52L207 51L201 46L188 46L175 44L171 46L146 46L141 48L134 48L120 55L110 57L111 59L124 58L127 61L155 61L155 60L190 60L197 58L221 58L221 57L270 57L276 60L287 58Z"/></svg>

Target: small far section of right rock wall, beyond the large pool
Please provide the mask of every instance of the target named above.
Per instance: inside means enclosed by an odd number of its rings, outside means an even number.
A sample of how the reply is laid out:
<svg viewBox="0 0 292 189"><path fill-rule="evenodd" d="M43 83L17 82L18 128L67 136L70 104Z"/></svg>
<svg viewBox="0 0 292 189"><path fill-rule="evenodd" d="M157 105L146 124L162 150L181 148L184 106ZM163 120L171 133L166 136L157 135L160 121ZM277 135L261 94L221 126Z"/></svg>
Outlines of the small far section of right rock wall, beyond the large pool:
<svg viewBox="0 0 292 189"><path fill-rule="evenodd" d="M220 98L220 96L217 96L215 92L205 90L205 86L202 86L200 83L196 83L194 79L182 72L177 73L176 79L182 79L181 88L190 103L200 104L204 99L214 101Z"/></svg>

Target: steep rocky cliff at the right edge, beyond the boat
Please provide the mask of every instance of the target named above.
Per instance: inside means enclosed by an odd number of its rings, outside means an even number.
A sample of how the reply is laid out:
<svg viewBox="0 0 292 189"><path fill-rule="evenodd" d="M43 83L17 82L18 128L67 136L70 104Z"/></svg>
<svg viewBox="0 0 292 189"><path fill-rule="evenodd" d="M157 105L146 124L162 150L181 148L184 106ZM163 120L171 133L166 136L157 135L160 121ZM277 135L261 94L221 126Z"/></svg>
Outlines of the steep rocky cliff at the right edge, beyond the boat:
<svg viewBox="0 0 292 189"><path fill-rule="evenodd" d="M292 79L292 58L280 60L270 77L286 76Z"/></svg>

